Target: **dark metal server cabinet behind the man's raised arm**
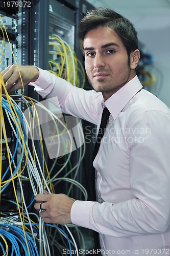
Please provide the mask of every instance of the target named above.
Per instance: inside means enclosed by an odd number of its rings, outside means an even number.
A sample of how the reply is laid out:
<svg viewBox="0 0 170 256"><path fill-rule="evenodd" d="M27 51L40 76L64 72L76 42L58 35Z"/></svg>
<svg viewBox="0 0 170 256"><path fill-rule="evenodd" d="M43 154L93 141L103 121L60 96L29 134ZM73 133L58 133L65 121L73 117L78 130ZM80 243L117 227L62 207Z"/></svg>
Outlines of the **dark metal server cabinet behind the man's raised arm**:
<svg viewBox="0 0 170 256"><path fill-rule="evenodd" d="M57 58L56 54L53 54L54 46L50 45L53 40L48 39L54 34L58 34L75 49L78 59L83 63L83 55L77 41L78 22L84 14L83 11L92 8L86 1L75 0L70 3L70 1L41 0L35 7L23 13L21 36L22 38L24 36L25 40L22 41L20 49L21 56L24 54L25 58L21 60L22 65L25 65L27 59L28 65L48 70L50 68L48 60ZM55 67L52 68L55 71ZM88 88L87 80L86 87ZM26 94L41 100L34 88L29 87L26 90ZM76 154L76 152L72 154L72 161L76 161ZM51 165L50 160L47 159L47 161ZM81 174L79 174L78 180L82 182Z"/></svg>

